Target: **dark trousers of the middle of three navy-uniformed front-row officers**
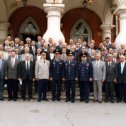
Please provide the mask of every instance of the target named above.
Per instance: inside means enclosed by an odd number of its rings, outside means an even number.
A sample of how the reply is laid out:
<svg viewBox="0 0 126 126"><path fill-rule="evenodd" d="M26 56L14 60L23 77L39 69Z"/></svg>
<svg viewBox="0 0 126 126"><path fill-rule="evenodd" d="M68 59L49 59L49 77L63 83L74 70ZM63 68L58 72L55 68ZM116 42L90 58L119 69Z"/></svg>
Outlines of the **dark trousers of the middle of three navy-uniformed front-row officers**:
<svg viewBox="0 0 126 126"><path fill-rule="evenodd" d="M75 80L66 80L66 97L75 100Z"/></svg>

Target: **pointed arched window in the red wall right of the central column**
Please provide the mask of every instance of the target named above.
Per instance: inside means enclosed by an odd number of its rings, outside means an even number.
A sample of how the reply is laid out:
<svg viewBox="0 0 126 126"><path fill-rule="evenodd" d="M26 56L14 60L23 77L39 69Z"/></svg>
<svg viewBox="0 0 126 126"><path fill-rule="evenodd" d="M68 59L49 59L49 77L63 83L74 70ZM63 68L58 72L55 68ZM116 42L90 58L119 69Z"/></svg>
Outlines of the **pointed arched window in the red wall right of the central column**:
<svg viewBox="0 0 126 126"><path fill-rule="evenodd" d="M76 42L78 38L86 41L88 44L92 39L92 32L88 24L83 20L79 19L73 26L70 37Z"/></svg>

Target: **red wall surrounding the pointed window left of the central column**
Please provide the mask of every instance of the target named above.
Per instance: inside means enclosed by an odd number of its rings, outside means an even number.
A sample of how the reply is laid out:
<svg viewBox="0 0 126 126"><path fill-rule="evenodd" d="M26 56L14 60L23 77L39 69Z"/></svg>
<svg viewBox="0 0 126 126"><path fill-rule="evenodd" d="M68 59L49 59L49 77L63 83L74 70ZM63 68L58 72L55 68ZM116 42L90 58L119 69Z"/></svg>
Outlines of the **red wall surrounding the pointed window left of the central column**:
<svg viewBox="0 0 126 126"><path fill-rule="evenodd" d="M46 13L43 10L33 6L26 6L19 8L11 15L9 19L10 22L9 31L13 32L14 34L18 33L21 24L29 16L33 17L38 23L38 26L40 27L41 31L40 34L45 33L47 28Z"/></svg>

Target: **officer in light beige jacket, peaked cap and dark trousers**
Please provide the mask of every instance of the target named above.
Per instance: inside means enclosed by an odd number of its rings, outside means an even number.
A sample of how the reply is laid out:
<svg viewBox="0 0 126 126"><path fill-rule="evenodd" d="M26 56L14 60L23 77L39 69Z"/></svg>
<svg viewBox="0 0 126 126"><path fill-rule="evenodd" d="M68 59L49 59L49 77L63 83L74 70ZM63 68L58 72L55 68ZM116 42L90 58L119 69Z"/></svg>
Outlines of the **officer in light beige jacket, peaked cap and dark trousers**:
<svg viewBox="0 0 126 126"><path fill-rule="evenodd" d="M46 59L47 52L41 51L40 54L41 58L40 60L36 61L35 65L35 77L38 81L38 102L40 102L42 99L48 101L46 92L50 67L50 61Z"/></svg>

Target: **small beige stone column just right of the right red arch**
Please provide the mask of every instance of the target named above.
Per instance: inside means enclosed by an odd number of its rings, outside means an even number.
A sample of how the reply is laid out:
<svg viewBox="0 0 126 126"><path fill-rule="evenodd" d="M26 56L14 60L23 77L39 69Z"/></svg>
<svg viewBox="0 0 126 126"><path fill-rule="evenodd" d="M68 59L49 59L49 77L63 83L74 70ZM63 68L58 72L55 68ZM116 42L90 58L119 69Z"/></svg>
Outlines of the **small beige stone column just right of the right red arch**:
<svg viewBox="0 0 126 126"><path fill-rule="evenodd" d="M102 29L102 39L104 40L106 37L111 39L111 30L114 28L114 25L103 24L101 25Z"/></svg>

